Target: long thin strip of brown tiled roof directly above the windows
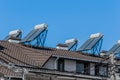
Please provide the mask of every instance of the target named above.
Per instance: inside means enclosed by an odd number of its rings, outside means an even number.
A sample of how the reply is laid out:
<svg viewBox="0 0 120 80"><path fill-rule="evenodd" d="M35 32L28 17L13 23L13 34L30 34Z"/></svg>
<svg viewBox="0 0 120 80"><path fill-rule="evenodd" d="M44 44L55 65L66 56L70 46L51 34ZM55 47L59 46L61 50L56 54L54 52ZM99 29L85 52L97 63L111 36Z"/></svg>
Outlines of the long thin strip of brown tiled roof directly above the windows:
<svg viewBox="0 0 120 80"><path fill-rule="evenodd" d="M36 50L39 50L42 53L52 54L53 57L62 57L68 59L76 59L76 60L84 60L84 61L92 61L92 62L100 62L102 58L98 56L90 56L86 55L82 52L76 51L68 51L63 49L56 49L56 48L43 48L43 47L33 47Z"/></svg>

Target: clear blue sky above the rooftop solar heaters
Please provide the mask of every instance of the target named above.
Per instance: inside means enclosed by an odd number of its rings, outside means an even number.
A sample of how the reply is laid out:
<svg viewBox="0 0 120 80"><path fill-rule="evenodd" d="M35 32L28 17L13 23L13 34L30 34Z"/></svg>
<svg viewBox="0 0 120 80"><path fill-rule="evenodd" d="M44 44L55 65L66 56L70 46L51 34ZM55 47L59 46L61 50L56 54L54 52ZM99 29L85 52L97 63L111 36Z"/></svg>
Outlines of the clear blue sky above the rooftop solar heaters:
<svg viewBox="0 0 120 80"><path fill-rule="evenodd" d="M49 25L49 47L74 37L81 46L101 32L102 48L108 50L120 39L120 0L0 0L1 40L14 29L23 30L24 37L39 23Z"/></svg>

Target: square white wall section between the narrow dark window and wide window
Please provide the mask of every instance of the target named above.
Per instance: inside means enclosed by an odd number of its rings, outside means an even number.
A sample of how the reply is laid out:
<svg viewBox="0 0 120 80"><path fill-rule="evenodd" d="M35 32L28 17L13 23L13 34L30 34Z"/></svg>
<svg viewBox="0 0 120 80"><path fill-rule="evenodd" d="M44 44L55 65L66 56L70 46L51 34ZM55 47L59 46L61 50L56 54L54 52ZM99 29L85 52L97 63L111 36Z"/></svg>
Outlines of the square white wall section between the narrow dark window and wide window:
<svg viewBox="0 0 120 80"><path fill-rule="evenodd" d="M65 71L76 71L76 61L65 60Z"/></svg>

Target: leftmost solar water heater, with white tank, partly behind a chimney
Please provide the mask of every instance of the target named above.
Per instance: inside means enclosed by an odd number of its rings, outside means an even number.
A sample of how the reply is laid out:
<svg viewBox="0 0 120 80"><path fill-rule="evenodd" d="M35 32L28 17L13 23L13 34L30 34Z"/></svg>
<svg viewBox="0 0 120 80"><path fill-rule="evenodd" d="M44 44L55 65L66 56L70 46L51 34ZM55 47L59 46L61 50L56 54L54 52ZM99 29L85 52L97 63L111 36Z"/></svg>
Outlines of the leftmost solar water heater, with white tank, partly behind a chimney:
<svg viewBox="0 0 120 80"><path fill-rule="evenodd" d="M22 37L22 31L17 29L9 32L9 35L4 38L5 41L8 41L9 39L21 39Z"/></svg>

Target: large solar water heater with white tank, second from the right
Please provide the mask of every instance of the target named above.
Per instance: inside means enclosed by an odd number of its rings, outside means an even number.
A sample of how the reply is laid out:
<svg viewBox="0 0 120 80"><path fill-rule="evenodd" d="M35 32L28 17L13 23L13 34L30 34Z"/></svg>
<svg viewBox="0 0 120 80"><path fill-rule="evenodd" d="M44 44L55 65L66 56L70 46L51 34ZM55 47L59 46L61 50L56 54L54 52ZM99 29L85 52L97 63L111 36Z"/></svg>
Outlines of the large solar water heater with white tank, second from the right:
<svg viewBox="0 0 120 80"><path fill-rule="evenodd" d="M102 42L103 34L101 33L91 34L90 38L77 51L98 54L101 51Z"/></svg>

